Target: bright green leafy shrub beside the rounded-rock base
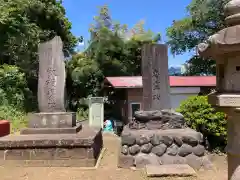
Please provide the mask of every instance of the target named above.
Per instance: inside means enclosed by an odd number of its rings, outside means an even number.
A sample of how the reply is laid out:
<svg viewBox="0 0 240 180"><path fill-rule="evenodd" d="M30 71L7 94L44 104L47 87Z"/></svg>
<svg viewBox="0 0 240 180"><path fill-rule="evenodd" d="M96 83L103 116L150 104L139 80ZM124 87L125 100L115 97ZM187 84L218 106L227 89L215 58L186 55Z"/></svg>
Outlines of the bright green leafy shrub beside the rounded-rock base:
<svg viewBox="0 0 240 180"><path fill-rule="evenodd" d="M201 132L210 143L210 147L222 149L226 145L225 114L217 112L207 100L207 96L192 96L180 104L188 126Z"/></svg>

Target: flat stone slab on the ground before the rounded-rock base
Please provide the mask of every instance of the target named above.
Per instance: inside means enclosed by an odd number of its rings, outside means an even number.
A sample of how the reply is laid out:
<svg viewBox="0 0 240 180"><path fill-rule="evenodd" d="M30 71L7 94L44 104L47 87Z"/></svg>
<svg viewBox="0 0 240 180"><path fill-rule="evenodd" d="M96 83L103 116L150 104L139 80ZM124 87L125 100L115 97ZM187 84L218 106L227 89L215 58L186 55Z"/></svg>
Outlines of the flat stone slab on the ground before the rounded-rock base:
<svg viewBox="0 0 240 180"><path fill-rule="evenodd" d="M148 177L189 177L197 175L194 169L187 164L146 165L146 173Z"/></svg>

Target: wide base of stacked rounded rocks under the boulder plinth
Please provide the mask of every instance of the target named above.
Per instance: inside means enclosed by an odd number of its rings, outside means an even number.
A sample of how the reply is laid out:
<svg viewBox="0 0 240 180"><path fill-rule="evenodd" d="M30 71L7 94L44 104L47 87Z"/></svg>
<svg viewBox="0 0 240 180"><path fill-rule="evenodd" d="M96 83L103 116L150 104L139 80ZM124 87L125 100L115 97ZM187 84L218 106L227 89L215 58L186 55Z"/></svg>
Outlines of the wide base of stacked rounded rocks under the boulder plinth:
<svg viewBox="0 0 240 180"><path fill-rule="evenodd" d="M120 168L144 168L147 164L188 164L209 169L202 145L203 136L192 129L133 130L124 127L121 136Z"/></svg>

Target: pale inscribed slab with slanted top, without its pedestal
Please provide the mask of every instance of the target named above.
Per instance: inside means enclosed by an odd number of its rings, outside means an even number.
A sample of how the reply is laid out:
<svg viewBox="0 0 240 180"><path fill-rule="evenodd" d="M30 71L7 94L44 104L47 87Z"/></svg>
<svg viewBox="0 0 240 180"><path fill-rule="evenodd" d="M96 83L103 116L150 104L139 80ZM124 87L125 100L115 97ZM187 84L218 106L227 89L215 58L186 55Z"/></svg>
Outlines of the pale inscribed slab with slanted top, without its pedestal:
<svg viewBox="0 0 240 180"><path fill-rule="evenodd" d="M65 63L62 40L55 37L39 46L38 106L41 112L65 111Z"/></svg>

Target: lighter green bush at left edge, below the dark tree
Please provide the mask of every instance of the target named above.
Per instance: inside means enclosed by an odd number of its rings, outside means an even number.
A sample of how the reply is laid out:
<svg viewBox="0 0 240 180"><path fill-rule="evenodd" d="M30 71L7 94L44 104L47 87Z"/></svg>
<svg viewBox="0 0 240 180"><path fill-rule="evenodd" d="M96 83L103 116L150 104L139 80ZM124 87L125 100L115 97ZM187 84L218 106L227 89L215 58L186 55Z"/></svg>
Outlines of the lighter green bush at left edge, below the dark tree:
<svg viewBox="0 0 240 180"><path fill-rule="evenodd" d="M10 121L11 133L26 127L26 104L31 97L25 74L11 65L0 66L0 120ZM31 105L30 105L31 106Z"/></svg>

